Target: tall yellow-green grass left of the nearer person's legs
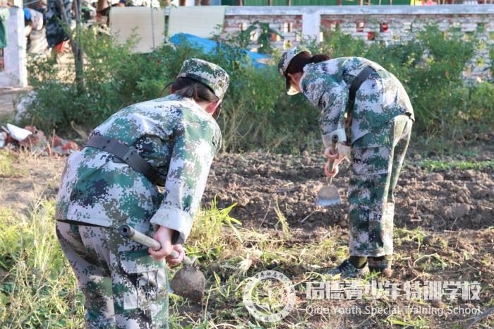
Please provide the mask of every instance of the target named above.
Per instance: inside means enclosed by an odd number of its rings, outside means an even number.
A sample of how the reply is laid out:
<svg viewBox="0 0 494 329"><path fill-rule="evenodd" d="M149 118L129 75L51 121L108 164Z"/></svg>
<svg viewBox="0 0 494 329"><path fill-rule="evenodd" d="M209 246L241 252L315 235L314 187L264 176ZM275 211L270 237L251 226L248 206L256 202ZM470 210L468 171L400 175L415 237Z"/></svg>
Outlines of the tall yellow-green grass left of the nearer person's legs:
<svg viewBox="0 0 494 329"><path fill-rule="evenodd" d="M83 328L83 297L56 240L54 201L0 210L0 327Z"/></svg>

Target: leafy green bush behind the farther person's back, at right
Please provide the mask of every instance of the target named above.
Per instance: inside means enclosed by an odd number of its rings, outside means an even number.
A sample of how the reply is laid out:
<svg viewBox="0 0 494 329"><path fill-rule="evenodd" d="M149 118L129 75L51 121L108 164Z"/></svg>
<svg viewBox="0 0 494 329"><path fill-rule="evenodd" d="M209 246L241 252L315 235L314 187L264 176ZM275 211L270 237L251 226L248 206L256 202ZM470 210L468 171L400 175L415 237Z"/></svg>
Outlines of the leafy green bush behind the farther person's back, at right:
<svg viewBox="0 0 494 329"><path fill-rule="evenodd" d="M479 126L494 123L492 83L469 86L462 78L476 45L475 37L464 40L459 32L429 25L399 44L366 44L335 31L312 48L332 57L362 56L381 64L404 85L416 114L415 132L462 140Z"/></svg>

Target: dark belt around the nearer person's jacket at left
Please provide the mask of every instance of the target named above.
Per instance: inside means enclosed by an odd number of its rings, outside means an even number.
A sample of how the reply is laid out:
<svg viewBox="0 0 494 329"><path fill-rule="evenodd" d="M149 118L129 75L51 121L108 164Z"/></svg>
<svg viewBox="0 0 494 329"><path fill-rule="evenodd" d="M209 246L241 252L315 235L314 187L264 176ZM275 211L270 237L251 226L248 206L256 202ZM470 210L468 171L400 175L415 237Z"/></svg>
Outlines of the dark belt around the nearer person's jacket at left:
<svg viewBox="0 0 494 329"><path fill-rule="evenodd" d="M141 157L138 151L135 150L135 148L129 148L120 140L106 138L99 135L93 135L90 136L85 146L90 148L97 148L118 157L136 172L140 172L141 174L143 174L152 182L152 184L157 184L159 179L162 178L162 175L160 175L156 169L151 167L151 164L149 164L149 162Z"/></svg>

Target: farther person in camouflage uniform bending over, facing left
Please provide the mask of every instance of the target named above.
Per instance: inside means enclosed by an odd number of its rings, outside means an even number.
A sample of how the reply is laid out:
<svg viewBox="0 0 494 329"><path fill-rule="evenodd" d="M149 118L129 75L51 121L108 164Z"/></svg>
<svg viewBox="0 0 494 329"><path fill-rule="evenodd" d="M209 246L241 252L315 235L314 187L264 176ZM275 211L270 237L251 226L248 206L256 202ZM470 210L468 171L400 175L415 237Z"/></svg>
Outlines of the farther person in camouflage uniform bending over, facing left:
<svg viewBox="0 0 494 329"><path fill-rule="evenodd" d="M369 268L390 269L393 193L415 120L402 84L368 59L312 56L302 46L284 52L278 68L286 77L289 95L302 92L321 110L327 176L337 174L338 164L345 156L351 161L350 257L327 273L356 277ZM366 75L367 72L371 73ZM361 73L363 78L359 77ZM351 86L356 81L359 85L354 90L358 89L351 99ZM335 135L339 141L338 152L332 154L330 145ZM329 172L330 160L335 161L332 172Z"/></svg>

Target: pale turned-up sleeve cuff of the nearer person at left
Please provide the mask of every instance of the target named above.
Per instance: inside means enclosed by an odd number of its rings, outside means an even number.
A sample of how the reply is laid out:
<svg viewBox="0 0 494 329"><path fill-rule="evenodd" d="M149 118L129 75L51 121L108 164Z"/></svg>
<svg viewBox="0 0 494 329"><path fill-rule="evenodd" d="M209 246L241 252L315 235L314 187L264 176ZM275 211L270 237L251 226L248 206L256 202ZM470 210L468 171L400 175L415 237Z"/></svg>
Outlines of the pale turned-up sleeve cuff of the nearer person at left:
<svg viewBox="0 0 494 329"><path fill-rule="evenodd" d="M183 244L188 238L188 234L192 229L192 217L185 211L171 207L169 205L162 205L159 207L154 216L150 220L151 224L168 227L175 232L172 235L172 244Z"/></svg>

